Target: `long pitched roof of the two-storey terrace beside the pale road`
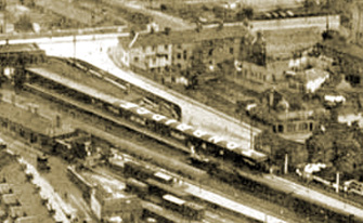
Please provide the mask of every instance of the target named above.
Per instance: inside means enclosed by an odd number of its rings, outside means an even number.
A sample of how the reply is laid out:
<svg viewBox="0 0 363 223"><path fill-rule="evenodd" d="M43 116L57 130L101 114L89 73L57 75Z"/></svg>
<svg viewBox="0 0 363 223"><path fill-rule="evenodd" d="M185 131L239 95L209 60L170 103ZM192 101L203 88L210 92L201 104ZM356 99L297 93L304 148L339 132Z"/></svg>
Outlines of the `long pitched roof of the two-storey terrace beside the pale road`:
<svg viewBox="0 0 363 223"><path fill-rule="evenodd" d="M232 37L244 37L248 30L245 27L223 27L219 28L204 28L200 31L189 29L183 31L170 30L168 35L164 31L154 34L140 34L134 41L133 47L146 47L158 44L180 44L187 42L200 42L203 40L225 39ZM127 48L132 41L130 37L120 37L120 43Z"/></svg>

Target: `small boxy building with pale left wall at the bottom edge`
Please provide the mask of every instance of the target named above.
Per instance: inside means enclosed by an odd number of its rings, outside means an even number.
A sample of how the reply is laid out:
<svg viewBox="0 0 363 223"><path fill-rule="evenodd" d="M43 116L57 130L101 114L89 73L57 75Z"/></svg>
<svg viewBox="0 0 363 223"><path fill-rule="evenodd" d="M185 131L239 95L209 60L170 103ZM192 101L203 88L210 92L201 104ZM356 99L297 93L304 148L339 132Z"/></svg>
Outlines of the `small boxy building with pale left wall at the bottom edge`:
<svg viewBox="0 0 363 223"><path fill-rule="evenodd" d="M96 186L91 193L91 210L100 221L121 219L122 223L141 222L142 207L135 195L105 191Z"/></svg>

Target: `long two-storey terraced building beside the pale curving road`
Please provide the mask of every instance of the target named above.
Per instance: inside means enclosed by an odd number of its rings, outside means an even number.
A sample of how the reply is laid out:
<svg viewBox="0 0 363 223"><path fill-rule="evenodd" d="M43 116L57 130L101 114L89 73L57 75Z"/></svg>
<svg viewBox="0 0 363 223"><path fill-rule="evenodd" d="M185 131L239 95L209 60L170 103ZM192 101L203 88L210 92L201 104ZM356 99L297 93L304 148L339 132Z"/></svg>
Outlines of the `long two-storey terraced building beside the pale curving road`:
<svg viewBox="0 0 363 223"><path fill-rule="evenodd" d="M195 60L207 67L239 58L245 27L197 28L131 34L119 38L120 62L143 71L185 70Z"/></svg>

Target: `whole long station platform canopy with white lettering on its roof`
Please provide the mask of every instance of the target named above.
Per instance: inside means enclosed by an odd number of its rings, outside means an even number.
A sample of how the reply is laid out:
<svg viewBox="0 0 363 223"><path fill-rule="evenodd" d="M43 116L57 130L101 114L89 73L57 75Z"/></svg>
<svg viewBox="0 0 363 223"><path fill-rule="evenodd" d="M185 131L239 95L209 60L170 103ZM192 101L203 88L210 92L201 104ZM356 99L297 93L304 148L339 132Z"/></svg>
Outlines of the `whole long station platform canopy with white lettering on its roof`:
<svg viewBox="0 0 363 223"><path fill-rule="evenodd" d="M43 71L35 71L27 69L28 80L24 84L30 88L35 84L37 89L49 88L60 91L57 93L61 93L63 96L67 95L72 97L72 100L93 104L117 117L121 117L153 132L157 132L163 136L171 137L174 141L183 143L191 149L195 148L206 155L223 157L223 160L232 160L239 165L246 163L254 168L264 168L268 165L268 155L250 149L248 145L226 141L220 135L210 134L193 126L182 123L177 119L151 112L135 103L104 94L81 83L62 82L62 79L52 78L52 74L47 74L44 69L42 70Z"/></svg>

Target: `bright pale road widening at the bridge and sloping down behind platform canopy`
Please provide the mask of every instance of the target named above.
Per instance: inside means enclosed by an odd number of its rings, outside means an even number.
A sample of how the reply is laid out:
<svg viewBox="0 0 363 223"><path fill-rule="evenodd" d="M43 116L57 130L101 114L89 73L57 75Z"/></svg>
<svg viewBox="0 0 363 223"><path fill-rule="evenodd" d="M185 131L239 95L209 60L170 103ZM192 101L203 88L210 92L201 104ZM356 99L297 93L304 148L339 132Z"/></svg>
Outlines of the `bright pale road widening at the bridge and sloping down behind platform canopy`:
<svg viewBox="0 0 363 223"><path fill-rule="evenodd" d="M235 118L226 116L211 107L181 95L164 86L155 83L146 78L142 78L131 71L126 71L117 67L108 57L107 49L117 45L117 36L127 34L107 34L107 35L86 35L77 37L55 37L27 40L10 40L9 43L37 42L48 55L56 56L76 56L107 70L132 84L139 86L158 96L165 97L182 107L183 122L193 124L202 130L220 135L225 140L246 144L249 147L250 131L256 135L260 130L250 128L248 123L242 122ZM0 44L5 41L0 41Z"/></svg>

